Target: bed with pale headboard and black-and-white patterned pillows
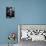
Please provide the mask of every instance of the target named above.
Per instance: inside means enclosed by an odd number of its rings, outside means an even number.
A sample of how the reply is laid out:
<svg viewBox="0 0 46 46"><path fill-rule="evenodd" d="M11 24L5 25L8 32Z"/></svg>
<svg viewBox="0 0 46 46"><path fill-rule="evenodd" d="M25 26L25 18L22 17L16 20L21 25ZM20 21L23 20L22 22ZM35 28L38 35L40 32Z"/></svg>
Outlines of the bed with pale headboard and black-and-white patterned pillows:
<svg viewBox="0 0 46 46"><path fill-rule="evenodd" d="M42 46L46 43L46 25L18 25L20 46Z"/></svg>

